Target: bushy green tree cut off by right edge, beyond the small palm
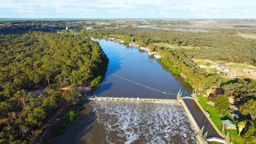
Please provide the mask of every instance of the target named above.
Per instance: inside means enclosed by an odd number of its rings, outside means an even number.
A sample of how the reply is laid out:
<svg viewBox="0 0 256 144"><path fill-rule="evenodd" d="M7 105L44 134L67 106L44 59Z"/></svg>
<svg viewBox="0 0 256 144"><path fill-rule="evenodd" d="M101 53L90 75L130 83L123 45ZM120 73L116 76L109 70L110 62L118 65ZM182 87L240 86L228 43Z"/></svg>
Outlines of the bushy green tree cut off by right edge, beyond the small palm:
<svg viewBox="0 0 256 144"><path fill-rule="evenodd" d="M252 117L252 121L254 121L254 116L256 115L256 100L251 99L247 101L240 107L239 111L243 115L250 114L250 116Z"/></svg>

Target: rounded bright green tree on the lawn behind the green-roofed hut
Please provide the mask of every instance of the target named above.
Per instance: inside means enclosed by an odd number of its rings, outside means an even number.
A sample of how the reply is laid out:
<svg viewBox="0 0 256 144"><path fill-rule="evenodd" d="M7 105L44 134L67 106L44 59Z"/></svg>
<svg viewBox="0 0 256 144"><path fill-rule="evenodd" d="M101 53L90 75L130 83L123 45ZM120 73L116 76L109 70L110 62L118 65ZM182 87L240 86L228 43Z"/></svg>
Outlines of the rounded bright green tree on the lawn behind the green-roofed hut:
<svg viewBox="0 0 256 144"><path fill-rule="evenodd" d="M221 109L221 113L223 113L223 110L229 107L228 94L219 94L214 103L215 109Z"/></svg>

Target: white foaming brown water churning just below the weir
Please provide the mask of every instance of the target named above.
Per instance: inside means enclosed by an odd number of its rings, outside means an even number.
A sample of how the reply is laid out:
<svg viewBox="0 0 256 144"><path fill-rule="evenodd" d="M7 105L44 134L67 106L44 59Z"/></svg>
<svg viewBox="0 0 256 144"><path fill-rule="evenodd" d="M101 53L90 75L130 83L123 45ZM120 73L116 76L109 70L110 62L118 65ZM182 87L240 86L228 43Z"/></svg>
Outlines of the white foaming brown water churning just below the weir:
<svg viewBox="0 0 256 144"><path fill-rule="evenodd" d="M176 102L95 101L109 144L196 144L196 132Z"/></svg>

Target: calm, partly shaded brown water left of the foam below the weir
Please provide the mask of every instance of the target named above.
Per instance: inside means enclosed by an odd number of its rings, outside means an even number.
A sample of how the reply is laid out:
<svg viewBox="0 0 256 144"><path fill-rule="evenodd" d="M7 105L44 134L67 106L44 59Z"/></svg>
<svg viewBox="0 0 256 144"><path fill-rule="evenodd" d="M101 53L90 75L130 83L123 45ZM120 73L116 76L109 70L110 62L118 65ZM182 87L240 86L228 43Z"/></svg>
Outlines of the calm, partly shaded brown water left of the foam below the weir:
<svg viewBox="0 0 256 144"><path fill-rule="evenodd" d="M102 137L106 130L101 129L104 125L96 120L93 106L90 103L91 101L86 100L83 107L76 110L75 122L69 123L68 128L64 130L65 133L48 141L48 144L104 144ZM98 129L101 130L97 131Z"/></svg>

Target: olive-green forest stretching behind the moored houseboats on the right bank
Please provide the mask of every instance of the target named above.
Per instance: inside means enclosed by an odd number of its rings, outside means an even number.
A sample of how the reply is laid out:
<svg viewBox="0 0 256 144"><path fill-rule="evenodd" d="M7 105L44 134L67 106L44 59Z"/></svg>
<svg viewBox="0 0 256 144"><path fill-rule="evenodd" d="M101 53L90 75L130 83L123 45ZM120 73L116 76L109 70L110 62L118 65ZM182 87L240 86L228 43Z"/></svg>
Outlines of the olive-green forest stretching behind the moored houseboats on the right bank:
<svg viewBox="0 0 256 144"><path fill-rule="evenodd" d="M184 47L191 46L192 48L182 48L180 51L190 58L256 65L256 39L241 37L237 35L235 29L175 31L152 28L119 28L97 29L85 31L85 33L117 37L124 41L135 42L140 46L159 42Z"/></svg>

